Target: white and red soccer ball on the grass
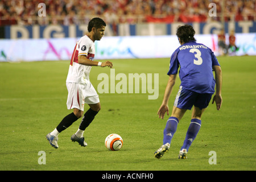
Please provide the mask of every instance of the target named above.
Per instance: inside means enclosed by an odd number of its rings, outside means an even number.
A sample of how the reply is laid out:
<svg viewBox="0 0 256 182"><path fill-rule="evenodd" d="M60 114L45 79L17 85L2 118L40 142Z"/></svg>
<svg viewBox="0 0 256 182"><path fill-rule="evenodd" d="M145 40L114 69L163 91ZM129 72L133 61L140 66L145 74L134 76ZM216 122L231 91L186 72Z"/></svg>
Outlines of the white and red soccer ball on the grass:
<svg viewBox="0 0 256 182"><path fill-rule="evenodd" d="M105 146L108 150L120 150L123 146L123 139L118 134L110 134L105 139Z"/></svg>

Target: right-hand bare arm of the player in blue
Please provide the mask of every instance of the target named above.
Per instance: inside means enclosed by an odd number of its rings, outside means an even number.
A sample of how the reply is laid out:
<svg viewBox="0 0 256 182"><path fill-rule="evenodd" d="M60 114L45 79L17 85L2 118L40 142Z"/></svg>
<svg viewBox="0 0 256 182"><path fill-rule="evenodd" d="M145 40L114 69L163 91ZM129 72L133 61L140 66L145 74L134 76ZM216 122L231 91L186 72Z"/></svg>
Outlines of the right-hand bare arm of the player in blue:
<svg viewBox="0 0 256 182"><path fill-rule="evenodd" d="M221 97L221 87L222 87L222 71L221 67L218 65L213 66L213 70L215 72L215 80L216 80L216 93L213 97L212 104L216 103L217 110L220 110L222 104L222 97Z"/></svg>

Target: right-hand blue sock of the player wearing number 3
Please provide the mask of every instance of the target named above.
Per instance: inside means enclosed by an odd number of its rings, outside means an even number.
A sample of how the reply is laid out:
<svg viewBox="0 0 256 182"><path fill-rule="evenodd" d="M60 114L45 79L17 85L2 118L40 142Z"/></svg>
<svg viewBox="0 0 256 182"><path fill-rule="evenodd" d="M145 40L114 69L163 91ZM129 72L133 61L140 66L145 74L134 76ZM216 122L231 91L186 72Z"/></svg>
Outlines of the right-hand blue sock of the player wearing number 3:
<svg viewBox="0 0 256 182"><path fill-rule="evenodd" d="M180 148L180 150L182 150L183 148L186 148L188 151L188 148L191 146L193 140L195 140L196 135L200 130L200 127L201 127L200 119L191 119L191 123L188 127L188 131L187 131L183 146Z"/></svg>

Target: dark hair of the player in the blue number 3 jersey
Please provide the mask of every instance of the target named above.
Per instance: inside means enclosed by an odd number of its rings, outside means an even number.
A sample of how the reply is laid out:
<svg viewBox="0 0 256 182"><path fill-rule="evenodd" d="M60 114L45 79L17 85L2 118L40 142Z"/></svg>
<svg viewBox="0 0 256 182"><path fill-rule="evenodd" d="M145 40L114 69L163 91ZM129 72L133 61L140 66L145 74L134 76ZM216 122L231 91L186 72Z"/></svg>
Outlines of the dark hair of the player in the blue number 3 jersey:
<svg viewBox="0 0 256 182"><path fill-rule="evenodd" d="M195 33L196 32L192 26L190 26L189 24L185 24L177 28L176 35L178 38L180 38L181 42L187 43L190 40L196 41L196 39L194 38Z"/></svg>

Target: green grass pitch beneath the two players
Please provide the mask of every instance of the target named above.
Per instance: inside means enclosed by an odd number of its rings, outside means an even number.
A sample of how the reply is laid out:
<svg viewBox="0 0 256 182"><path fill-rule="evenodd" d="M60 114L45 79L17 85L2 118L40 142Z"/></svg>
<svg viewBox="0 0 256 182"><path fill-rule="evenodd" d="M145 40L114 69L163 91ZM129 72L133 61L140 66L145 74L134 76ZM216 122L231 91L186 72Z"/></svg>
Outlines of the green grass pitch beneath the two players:
<svg viewBox="0 0 256 182"><path fill-rule="evenodd" d="M185 160L177 155L191 111L179 122L170 151L162 159L154 158L168 118L162 120L157 115L168 80L168 58L112 60L115 75L159 73L158 99L148 100L148 93L99 94L102 109L85 130L88 146L70 140L79 119L59 135L57 150L49 145L46 134L72 111L66 106L69 61L0 63L0 170L255 170L255 59L218 57L223 73L222 108L217 111L215 104L209 105ZM93 67L90 73L96 90L102 72L109 75L110 69ZM170 112L179 84L177 78ZM123 138L121 150L106 149L104 141L111 133ZM38 163L39 151L45 152L46 164ZM216 152L216 164L209 164L210 151Z"/></svg>

